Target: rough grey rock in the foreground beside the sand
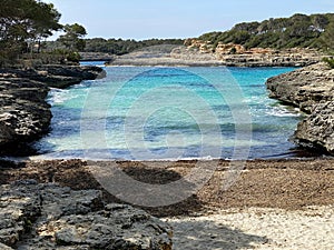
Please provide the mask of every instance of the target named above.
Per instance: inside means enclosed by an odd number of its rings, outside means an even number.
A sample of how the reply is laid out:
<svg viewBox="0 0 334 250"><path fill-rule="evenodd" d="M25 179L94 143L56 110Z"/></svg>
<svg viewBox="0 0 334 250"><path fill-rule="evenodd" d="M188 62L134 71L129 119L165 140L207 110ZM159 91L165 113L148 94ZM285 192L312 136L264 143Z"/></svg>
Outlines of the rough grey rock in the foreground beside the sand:
<svg viewBox="0 0 334 250"><path fill-rule="evenodd" d="M1 249L171 249L167 223L130 206L104 204L98 190L19 181L0 187L0 207Z"/></svg>

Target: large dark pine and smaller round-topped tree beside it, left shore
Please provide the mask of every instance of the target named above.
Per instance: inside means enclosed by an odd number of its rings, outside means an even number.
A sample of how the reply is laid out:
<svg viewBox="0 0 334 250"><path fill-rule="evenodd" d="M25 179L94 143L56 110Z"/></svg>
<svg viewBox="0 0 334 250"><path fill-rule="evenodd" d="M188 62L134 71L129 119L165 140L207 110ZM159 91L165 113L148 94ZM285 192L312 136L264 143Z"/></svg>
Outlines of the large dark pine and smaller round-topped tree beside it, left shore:
<svg viewBox="0 0 334 250"><path fill-rule="evenodd" d="M52 3L39 0L1 0L0 64L13 63L24 53L40 53L43 40L59 30L66 32L59 38L59 42L68 51L82 49L85 28L78 23L62 26L59 23L60 17Z"/></svg>

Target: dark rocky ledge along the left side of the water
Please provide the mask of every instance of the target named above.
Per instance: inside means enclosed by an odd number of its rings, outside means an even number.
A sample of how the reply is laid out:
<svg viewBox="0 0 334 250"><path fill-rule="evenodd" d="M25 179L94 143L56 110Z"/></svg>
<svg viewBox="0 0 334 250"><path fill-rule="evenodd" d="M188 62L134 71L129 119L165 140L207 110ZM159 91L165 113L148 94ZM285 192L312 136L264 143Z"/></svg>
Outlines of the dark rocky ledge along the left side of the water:
<svg viewBox="0 0 334 250"><path fill-rule="evenodd" d="M46 102L49 87L66 88L104 77L102 72L97 67L66 66L0 69L0 152L20 153L27 142L48 131L52 117Z"/></svg>

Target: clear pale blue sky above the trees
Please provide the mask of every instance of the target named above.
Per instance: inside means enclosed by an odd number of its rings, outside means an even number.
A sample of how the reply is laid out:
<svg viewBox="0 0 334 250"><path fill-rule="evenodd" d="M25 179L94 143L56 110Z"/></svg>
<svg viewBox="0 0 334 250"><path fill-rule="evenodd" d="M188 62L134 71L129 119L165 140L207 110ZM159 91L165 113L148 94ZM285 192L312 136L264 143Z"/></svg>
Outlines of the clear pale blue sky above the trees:
<svg viewBox="0 0 334 250"><path fill-rule="evenodd" d="M195 38L245 21L334 12L333 0L43 0L87 38ZM55 38L55 37L53 37Z"/></svg>

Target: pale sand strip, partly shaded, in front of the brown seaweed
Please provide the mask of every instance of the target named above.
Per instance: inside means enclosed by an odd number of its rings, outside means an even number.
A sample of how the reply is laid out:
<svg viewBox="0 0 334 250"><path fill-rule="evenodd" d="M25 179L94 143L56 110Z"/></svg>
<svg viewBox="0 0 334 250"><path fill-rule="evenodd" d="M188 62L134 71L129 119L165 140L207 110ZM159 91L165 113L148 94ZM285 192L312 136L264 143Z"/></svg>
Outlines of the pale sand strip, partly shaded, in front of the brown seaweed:
<svg viewBox="0 0 334 250"><path fill-rule="evenodd" d="M165 219L174 249L334 249L334 208L248 208Z"/></svg>

